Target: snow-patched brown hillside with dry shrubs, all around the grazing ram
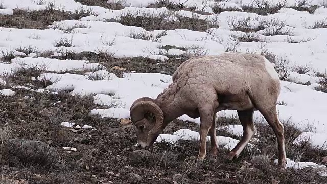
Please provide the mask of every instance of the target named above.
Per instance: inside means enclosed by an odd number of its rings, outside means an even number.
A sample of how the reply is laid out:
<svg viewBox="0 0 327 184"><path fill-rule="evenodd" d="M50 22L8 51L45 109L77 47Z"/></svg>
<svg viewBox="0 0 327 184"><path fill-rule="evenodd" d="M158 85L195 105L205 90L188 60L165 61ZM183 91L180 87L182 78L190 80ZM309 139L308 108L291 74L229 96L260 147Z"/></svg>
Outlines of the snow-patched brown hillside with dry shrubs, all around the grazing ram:
<svg viewBox="0 0 327 184"><path fill-rule="evenodd" d="M139 151L129 109L193 56L259 53L281 79L285 170L259 111L217 113L216 159L199 123L172 121ZM326 183L326 0L0 0L0 183ZM210 149L210 144L207 144Z"/></svg>

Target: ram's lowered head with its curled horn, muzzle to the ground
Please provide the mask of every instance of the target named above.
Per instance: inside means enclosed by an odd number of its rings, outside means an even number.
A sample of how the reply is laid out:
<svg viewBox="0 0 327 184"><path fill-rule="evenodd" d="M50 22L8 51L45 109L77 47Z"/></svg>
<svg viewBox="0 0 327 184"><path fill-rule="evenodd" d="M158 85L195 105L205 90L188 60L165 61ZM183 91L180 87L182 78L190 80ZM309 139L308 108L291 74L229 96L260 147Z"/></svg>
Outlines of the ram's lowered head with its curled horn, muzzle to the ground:
<svg viewBox="0 0 327 184"><path fill-rule="evenodd" d="M153 99L143 97L131 105L130 116L136 127L138 147L148 149L161 132L164 113Z"/></svg>

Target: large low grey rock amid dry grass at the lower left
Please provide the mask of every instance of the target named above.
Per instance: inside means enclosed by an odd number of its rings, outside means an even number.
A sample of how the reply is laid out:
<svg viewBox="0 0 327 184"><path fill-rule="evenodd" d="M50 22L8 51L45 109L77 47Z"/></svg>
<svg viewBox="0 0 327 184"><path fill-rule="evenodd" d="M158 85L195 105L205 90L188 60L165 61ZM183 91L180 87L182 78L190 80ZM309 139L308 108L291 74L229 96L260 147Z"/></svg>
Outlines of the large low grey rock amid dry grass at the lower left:
<svg viewBox="0 0 327 184"><path fill-rule="evenodd" d="M23 163L52 164L56 160L56 149L41 141L10 139L9 154Z"/></svg>

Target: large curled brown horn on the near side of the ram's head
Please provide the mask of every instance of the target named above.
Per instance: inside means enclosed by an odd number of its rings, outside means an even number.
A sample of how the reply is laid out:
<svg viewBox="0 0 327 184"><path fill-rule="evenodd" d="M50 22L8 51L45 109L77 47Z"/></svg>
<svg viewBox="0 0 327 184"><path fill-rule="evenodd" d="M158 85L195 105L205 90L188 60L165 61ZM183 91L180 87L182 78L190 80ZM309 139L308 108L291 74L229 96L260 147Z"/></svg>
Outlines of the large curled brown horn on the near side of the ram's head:
<svg viewBox="0 0 327 184"><path fill-rule="evenodd" d="M152 101L139 101L136 102L130 110L131 119L134 122L135 120L141 120L144 118L145 112L152 112L155 116L156 122L152 130L149 131L148 135L155 134L160 131L162 124L164 123L164 112L160 107Z"/></svg>

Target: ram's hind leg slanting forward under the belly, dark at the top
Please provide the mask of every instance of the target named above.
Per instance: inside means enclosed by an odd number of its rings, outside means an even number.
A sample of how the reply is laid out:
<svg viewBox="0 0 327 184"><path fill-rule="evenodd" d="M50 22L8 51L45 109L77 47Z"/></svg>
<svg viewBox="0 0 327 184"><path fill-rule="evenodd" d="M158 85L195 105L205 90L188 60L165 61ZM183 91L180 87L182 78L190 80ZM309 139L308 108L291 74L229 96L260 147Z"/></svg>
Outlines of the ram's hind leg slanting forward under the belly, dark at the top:
<svg viewBox="0 0 327 184"><path fill-rule="evenodd" d="M233 148L228 154L227 159L232 160L233 158L237 158L240 153L243 151L245 146L252 139L255 131L254 123L253 123L253 109L237 111L240 122L243 126L243 136L241 141Z"/></svg>

